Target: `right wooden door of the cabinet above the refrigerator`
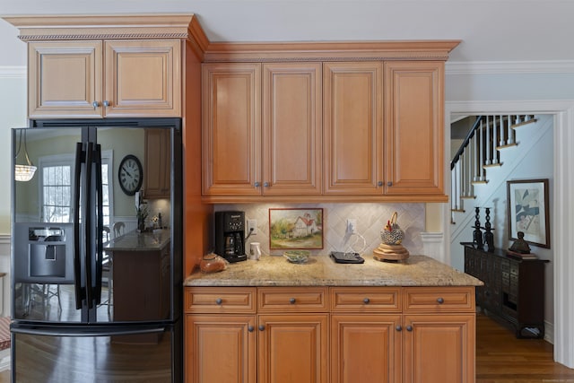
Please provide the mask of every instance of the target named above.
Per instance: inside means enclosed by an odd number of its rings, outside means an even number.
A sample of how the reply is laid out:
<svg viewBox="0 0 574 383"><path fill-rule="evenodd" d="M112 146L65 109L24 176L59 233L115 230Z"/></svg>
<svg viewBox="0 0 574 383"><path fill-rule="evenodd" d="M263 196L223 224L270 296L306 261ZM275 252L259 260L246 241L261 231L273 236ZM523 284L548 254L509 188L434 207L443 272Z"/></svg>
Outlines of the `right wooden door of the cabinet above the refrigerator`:
<svg viewBox="0 0 574 383"><path fill-rule="evenodd" d="M106 117L181 116L181 41L105 42Z"/></svg>

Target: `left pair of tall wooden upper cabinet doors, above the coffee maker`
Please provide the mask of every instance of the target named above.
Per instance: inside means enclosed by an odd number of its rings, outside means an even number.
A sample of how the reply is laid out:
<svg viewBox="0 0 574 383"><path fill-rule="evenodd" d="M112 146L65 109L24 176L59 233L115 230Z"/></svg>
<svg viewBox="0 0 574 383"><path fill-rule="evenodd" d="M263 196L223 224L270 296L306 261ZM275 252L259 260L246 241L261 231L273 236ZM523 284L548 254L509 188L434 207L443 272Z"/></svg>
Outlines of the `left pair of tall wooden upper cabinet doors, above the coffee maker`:
<svg viewBox="0 0 574 383"><path fill-rule="evenodd" d="M320 194L320 82L318 63L205 64L204 195Z"/></svg>

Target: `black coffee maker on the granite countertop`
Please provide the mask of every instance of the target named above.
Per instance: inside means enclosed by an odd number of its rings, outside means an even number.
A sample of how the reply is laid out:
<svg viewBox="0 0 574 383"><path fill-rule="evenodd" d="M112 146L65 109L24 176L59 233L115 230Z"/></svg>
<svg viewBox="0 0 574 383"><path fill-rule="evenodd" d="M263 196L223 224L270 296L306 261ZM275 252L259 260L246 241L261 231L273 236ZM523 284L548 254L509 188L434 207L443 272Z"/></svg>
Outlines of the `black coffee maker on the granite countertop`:
<svg viewBox="0 0 574 383"><path fill-rule="evenodd" d="M245 213L215 212L215 254L229 262L245 261Z"/></svg>

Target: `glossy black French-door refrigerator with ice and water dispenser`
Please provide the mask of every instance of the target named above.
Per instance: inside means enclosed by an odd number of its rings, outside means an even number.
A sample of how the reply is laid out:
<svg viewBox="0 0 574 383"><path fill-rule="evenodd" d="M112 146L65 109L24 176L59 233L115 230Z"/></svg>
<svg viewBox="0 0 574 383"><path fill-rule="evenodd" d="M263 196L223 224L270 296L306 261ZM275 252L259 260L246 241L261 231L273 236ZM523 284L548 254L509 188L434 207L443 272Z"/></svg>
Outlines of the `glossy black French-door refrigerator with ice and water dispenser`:
<svg viewBox="0 0 574 383"><path fill-rule="evenodd" d="M181 135L178 118L12 129L14 382L182 381Z"/></svg>

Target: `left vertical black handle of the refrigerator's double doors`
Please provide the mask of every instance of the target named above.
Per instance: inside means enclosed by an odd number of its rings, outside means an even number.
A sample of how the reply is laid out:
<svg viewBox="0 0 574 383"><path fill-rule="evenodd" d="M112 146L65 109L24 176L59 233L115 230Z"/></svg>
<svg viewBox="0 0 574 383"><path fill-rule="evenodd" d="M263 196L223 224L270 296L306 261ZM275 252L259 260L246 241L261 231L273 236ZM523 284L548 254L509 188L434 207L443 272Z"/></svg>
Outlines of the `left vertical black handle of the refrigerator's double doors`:
<svg viewBox="0 0 574 383"><path fill-rule="evenodd" d="M80 185L82 183L82 143L76 143L74 161L74 292L75 308L82 309L82 261L80 259Z"/></svg>

